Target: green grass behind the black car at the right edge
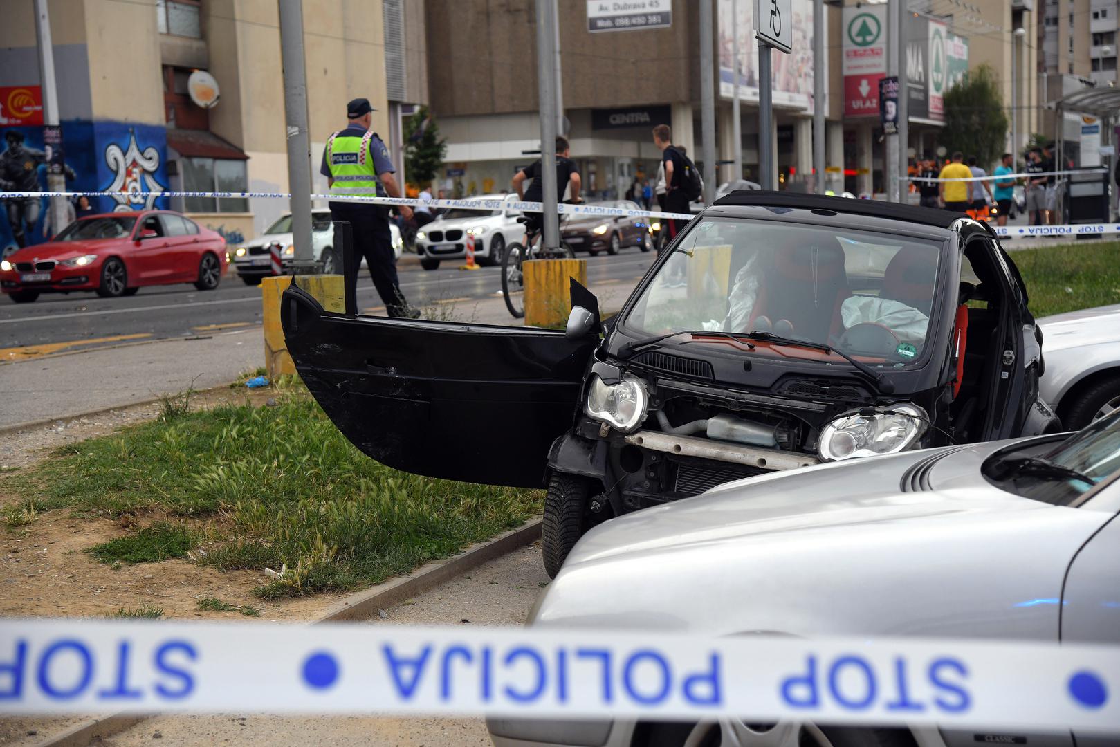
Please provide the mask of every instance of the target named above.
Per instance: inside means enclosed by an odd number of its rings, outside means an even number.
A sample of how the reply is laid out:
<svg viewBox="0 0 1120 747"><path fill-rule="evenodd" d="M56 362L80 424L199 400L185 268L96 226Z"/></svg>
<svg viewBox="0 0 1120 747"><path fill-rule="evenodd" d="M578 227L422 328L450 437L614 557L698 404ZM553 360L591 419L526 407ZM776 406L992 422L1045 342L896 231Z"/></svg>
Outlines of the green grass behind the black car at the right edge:
<svg viewBox="0 0 1120 747"><path fill-rule="evenodd" d="M1030 311L1036 317L1120 304L1118 241L1042 243L1038 249L1011 252L1011 259L1027 283Z"/></svg>

